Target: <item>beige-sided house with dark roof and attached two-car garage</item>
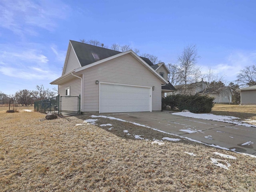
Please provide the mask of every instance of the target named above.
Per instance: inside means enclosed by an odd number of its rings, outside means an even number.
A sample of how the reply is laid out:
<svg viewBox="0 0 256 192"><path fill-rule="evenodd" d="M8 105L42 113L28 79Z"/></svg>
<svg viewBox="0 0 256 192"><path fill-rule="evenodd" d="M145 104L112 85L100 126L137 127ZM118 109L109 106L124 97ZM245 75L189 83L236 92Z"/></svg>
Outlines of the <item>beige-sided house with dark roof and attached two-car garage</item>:
<svg viewBox="0 0 256 192"><path fill-rule="evenodd" d="M70 40L62 76L50 84L58 85L60 96L81 95L80 112L160 111L162 94L175 88L164 63L157 65L132 50Z"/></svg>

